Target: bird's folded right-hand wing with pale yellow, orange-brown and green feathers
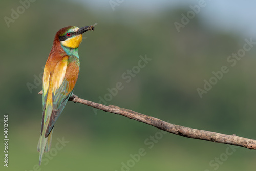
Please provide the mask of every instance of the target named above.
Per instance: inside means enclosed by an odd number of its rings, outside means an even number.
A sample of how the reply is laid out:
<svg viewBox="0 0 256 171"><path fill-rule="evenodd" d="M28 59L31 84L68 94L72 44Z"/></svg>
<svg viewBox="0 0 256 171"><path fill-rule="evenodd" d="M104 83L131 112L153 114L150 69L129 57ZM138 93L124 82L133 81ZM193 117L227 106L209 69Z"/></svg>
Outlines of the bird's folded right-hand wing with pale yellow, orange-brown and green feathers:
<svg viewBox="0 0 256 171"><path fill-rule="evenodd" d="M50 81L52 94L52 113L49 116L45 137L47 137L63 111L69 97L73 93L79 74L79 60L73 56L65 56L54 68ZM49 97L48 97L49 98Z"/></svg>

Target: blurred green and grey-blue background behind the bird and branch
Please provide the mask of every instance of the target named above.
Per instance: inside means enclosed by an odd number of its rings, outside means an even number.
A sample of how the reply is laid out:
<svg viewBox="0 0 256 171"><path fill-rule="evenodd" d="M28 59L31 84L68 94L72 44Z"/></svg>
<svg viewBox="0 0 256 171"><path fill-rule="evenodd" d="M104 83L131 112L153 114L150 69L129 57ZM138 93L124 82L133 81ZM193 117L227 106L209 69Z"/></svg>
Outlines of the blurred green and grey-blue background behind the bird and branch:
<svg viewBox="0 0 256 171"><path fill-rule="evenodd" d="M202 1L22 2L2 1L0 7L1 142L4 114L9 115L9 167L4 167L0 143L1 170L255 170L256 153L246 148L163 134L73 102L56 122L53 150L40 167L36 149L42 115L37 92L54 35L68 25L96 22L79 47L74 94L99 102L108 88L122 82L124 88L107 105L256 139L255 45L233 67L227 62L245 39L256 41L255 1L206 0L179 31L174 23L182 24L183 14ZM17 10L19 16L12 16ZM6 17L15 19L6 23ZM145 55L151 61L126 82L122 75ZM222 66L229 72L200 98L197 89ZM58 139L68 143L60 145Z"/></svg>

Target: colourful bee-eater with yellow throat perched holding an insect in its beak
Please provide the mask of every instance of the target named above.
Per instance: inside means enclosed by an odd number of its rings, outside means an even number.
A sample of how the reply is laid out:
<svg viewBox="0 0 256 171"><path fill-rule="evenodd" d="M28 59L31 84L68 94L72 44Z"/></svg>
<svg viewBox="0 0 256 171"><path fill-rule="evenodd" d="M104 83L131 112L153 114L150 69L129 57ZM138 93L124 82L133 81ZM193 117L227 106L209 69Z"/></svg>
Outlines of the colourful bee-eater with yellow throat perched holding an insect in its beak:
<svg viewBox="0 0 256 171"><path fill-rule="evenodd" d="M80 68L78 46L82 33L88 30L94 30L94 25L80 29L68 26L55 35L42 78L42 124L37 146L39 165L44 151L50 150L54 124L73 94Z"/></svg>

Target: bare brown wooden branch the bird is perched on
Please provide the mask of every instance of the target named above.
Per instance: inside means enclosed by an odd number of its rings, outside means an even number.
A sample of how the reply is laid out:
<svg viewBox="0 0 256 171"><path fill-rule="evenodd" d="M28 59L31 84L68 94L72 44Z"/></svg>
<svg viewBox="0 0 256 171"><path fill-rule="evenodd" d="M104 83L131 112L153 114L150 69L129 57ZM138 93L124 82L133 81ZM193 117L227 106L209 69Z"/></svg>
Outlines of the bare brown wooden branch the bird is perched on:
<svg viewBox="0 0 256 171"><path fill-rule="evenodd" d="M42 94L42 91L40 91L38 94ZM69 101L85 104L93 108L103 110L105 112L122 115L130 119L134 119L139 122L152 125L154 127L157 127L158 129L161 129L176 135L180 135L183 137L195 138L195 139L206 140L211 142L218 142L223 144L236 145L236 146L241 146L248 149L256 149L256 140L253 140L253 139L238 137L236 135L226 135L221 133L215 133L215 132L205 131L205 130L197 130L197 129L192 129L192 128L184 127L180 125L174 125L174 124L162 121L160 119L154 118L152 116L134 112L129 109L119 108L118 106L114 106L114 105L105 106L99 103L94 103L92 101L80 99L76 95L71 96L69 98Z"/></svg>

